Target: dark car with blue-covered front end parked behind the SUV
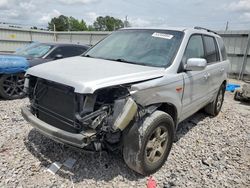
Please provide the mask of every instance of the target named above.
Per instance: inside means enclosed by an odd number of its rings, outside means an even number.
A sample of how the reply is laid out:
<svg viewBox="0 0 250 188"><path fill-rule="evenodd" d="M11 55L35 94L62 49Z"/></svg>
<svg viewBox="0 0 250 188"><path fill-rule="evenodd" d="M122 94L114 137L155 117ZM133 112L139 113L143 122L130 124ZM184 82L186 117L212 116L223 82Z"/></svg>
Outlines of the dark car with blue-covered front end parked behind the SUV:
<svg viewBox="0 0 250 188"><path fill-rule="evenodd" d="M86 45L34 42L14 54L0 54L0 96L4 99L24 97L24 73L30 67L55 59L83 54Z"/></svg>

